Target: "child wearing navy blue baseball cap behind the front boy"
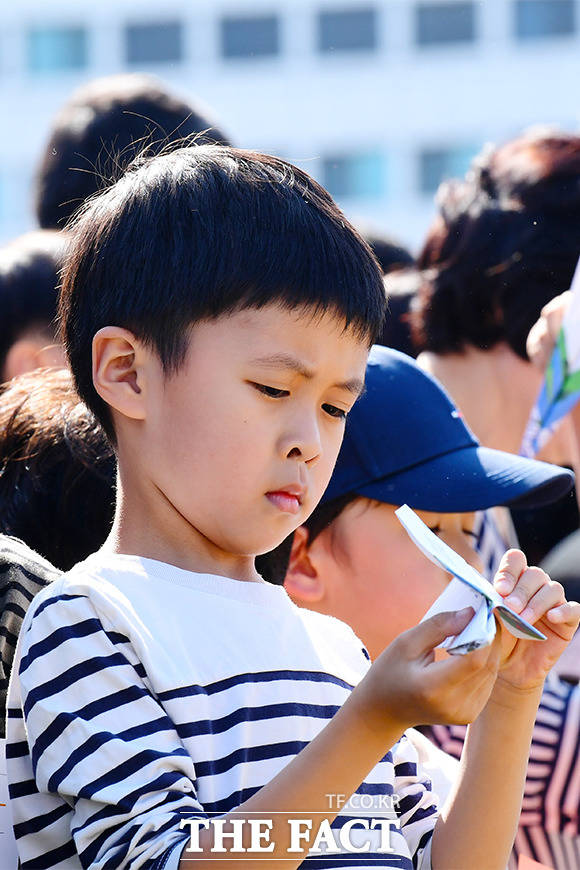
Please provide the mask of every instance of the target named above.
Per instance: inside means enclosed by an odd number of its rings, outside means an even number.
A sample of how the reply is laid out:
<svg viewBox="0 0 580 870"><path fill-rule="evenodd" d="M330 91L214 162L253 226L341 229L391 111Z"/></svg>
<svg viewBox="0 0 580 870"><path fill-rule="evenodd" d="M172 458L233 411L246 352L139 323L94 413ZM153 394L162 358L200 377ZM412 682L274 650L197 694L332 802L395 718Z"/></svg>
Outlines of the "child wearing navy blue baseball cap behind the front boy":
<svg viewBox="0 0 580 870"><path fill-rule="evenodd" d="M374 347L366 391L349 415L331 482L293 535L287 571L284 553L290 542L264 557L260 566L266 574L286 572L286 590L297 604L344 619L376 659L421 619L449 581L411 541L395 516L398 506L416 509L446 543L480 568L475 511L510 504L540 507L568 492L573 479L558 466L479 446L431 376L409 357ZM524 610L517 592L508 603ZM533 600L523 615L533 615ZM518 851L549 866L568 865L558 864L562 846L546 831L553 835L567 825L569 835L578 833L578 788L574 799L572 786L565 796L557 786L576 761L575 755L566 755L580 733L576 708L580 688L551 677L537 717L516 839ZM426 733L460 756L464 728L434 725ZM549 810L544 820L542 808Z"/></svg>

